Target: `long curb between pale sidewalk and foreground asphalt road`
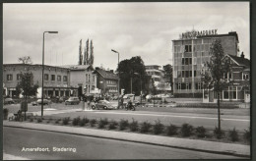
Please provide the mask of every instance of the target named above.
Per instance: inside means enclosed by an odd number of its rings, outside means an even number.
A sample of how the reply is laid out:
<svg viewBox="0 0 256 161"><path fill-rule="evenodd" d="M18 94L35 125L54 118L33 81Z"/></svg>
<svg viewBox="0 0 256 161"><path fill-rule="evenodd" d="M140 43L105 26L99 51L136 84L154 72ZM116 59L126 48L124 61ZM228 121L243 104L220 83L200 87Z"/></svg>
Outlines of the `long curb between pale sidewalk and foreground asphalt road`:
<svg viewBox="0 0 256 161"><path fill-rule="evenodd" d="M171 145L171 144L166 144L166 143L156 143L154 141L143 141L143 140L135 140L135 139L129 139L127 137L122 138L122 137L111 137L111 136L103 136L103 135L98 135L97 134L78 134L78 133L70 133L70 132L60 132L60 131L53 131L53 130L43 130L39 128L28 128L28 127L21 127L21 126L14 126L14 125L3 125L3 127L9 127L9 128L20 128L20 129L27 129L27 130L35 130L35 131L44 131L44 132L53 132L53 133L60 133L60 134L76 134L76 135L84 135L84 136L91 136L91 137L96 137L96 138L105 138L105 139L113 139L113 140L121 140L121 141L128 141L128 142L136 142L136 143L144 143L144 144L151 144L151 145L158 145L158 146L164 146L164 147L171 147L171 148L179 148L179 149L186 149L186 150L193 150L193 151L199 151L199 152L207 152L207 153L214 153L214 154L224 154L224 155L232 155L232 156L237 156L237 157L246 157L249 158L250 155L246 154L239 154L235 153L235 151L217 151L217 150L209 150L209 149L203 149L203 148L191 148L191 147L185 147L185 146L178 146L178 145ZM57 126L59 127L59 126ZM95 130L95 129L94 129ZM101 130L95 130L95 131L101 131ZM112 131L114 132L114 131ZM124 132L122 132L124 133ZM130 133L127 133L130 134ZM148 135L148 134L147 134Z"/></svg>

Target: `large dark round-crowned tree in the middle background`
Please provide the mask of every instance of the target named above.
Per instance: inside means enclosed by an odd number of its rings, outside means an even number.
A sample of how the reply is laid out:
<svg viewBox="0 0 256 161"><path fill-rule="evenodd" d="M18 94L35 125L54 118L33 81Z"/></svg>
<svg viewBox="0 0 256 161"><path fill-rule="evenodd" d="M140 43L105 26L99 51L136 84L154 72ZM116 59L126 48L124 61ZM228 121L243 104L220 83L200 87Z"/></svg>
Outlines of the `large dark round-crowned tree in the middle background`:
<svg viewBox="0 0 256 161"><path fill-rule="evenodd" d="M131 81L132 90L136 95L140 94L141 88L145 90L145 83L147 81L146 69L140 56L121 61L117 72L120 78L120 88L124 88L126 92L131 92Z"/></svg>

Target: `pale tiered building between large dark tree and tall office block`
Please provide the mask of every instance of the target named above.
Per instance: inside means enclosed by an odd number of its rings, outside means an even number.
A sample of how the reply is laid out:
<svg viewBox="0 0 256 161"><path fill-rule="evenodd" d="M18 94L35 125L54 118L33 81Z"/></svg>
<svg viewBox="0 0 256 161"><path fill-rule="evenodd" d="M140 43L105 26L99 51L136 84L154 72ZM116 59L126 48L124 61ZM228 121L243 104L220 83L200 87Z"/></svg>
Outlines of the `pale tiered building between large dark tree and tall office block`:
<svg viewBox="0 0 256 161"><path fill-rule="evenodd" d="M152 65L152 66L145 66L146 73L148 76L151 77L152 80L154 80L154 84L157 87L158 93L163 93L166 91L170 91L170 83L166 82L163 77L163 71L160 70L160 66L158 65Z"/></svg>

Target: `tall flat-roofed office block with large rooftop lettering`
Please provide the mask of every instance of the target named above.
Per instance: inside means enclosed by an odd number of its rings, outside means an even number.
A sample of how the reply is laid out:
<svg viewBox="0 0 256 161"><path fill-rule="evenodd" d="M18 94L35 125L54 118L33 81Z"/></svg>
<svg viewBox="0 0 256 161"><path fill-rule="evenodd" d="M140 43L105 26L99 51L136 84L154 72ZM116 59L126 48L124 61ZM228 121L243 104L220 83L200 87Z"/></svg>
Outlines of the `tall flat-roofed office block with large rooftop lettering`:
<svg viewBox="0 0 256 161"><path fill-rule="evenodd" d="M173 94L177 97L202 97L201 71L210 61L210 47L215 39L221 39L224 54L237 56L238 35L235 31L217 34L217 29L183 33L172 40Z"/></svg>

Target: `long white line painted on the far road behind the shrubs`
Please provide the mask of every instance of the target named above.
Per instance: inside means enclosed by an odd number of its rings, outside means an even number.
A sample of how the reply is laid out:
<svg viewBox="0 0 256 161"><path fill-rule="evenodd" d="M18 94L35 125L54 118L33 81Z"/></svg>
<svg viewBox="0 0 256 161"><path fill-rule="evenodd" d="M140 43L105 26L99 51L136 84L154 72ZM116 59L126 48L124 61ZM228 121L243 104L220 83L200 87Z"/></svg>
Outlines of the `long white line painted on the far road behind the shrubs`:
<svg viewBox="0 0 256 161"><path fill-rule="evenodd" d="M198 116L182 116L182 115L164 115L164 114L138 114L138 113L118 113L118 112L103 112L96 111L96 113L105 113L105 114L121 114L121 115L145 115L145 116L164 116L164 117L176 117L176 118L190 118L190 119L209 119L209 120L217 120L218 118L209 118L209 117L198 117ZM223 119L226 121L240 121L240 122L249 122L250 120L246 119Z"/></svg>

